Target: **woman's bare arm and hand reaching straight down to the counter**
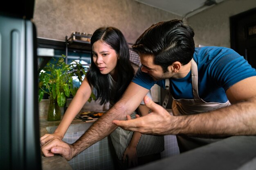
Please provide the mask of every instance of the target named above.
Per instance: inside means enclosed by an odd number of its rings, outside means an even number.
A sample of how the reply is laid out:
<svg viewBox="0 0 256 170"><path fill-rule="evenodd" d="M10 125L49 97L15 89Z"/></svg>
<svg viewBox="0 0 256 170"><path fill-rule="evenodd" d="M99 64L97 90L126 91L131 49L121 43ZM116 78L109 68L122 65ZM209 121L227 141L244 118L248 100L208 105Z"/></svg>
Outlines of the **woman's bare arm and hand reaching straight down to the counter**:
<svg viewBox="0 0 256 170"><path fill-rule="evenodd" d="M67 110L58 125L57 129L54 131L53 134L45 134L43 137L40 137L40 144L43 146L53 137L57 137L58 139L63 139L68 127L70 126L71 122L74 120L76 115L81 111L83 105L88 101L92 90L88 83L87 78L85 77L81 86L79 87L76 95L72 99L70 105L67 107Z"/></svg>

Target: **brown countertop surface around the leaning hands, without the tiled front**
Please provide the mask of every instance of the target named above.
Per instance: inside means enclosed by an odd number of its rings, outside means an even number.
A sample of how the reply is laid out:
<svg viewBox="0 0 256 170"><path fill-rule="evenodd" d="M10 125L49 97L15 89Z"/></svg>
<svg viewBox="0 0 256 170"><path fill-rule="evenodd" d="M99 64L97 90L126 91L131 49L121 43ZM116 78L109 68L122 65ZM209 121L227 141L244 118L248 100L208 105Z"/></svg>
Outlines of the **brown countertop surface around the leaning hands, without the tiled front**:
<svg viewBox="0 0 256 170"><path fill-rule="evenodd" d="M40 137L47 134L47 127L58 126L61 121L47 121L47 117L40 117ZM86 123L82 120L75 118L72 124ZM88 123L92 124L92 123ZM64 157L60 155L54 155L54 157L44 157L41 153L42 170L72 170L70 164Z"/></svg>

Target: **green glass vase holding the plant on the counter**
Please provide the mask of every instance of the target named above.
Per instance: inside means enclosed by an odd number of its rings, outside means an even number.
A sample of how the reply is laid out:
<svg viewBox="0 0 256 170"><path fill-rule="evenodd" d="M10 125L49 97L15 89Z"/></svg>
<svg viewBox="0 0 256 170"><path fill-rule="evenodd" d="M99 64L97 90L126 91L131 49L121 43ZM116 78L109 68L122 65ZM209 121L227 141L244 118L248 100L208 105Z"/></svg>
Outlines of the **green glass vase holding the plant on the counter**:
<svg viewBox="0 0 256 170"><path fill-rule="evenodd" d="M53 98L49 98L49 109L47 120L48 121L56 121L61 120L61 108L58 106L57 100Z"/></svg>

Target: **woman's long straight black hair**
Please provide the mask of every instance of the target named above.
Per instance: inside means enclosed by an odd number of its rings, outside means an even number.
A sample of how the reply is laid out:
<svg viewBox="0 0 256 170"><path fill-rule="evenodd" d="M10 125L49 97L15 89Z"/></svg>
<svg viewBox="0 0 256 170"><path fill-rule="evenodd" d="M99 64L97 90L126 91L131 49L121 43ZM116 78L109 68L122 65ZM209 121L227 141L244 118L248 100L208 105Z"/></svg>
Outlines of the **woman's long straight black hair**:
<svg viewBox="0 0 256 170"><path fill-rule="evenodd" d="M132 68L129 59L129 48L124 35L115 27L100 27L98 28L91 37L91 46L96 41L102 41L108 44L112 49L115 50L119 59L117 61L117 89L114 91L114 98L110 98L110 83L108 74L101 74L99 68L95 65L92 59L91 51L91 66L86 74L86 78L91 88L95 88L97 91L97 100L100 101L100 105L103 105L110 100L117 102L130 81L134 76L134 70Z"/></svg>

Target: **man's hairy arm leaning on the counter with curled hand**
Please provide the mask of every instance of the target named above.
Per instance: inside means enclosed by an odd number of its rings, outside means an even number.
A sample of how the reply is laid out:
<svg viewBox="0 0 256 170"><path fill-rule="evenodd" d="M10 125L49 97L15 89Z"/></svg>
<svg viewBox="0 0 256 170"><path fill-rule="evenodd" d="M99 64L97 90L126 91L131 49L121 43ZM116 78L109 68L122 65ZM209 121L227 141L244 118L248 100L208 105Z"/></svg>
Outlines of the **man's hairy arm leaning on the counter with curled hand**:
<svg viewBox="0 0 256 170"><path fill-rule="evenodd" d="M117 128L113 120L126 120L126 115L131 114L141 103L148 89L135 83L130 83L122 98L106 113L101 116L74 144L66 144L60 139L52 139L42 148L45 157L60 154L67 160L72 159L84 149L108 136Z"/></svg>

